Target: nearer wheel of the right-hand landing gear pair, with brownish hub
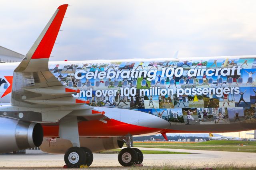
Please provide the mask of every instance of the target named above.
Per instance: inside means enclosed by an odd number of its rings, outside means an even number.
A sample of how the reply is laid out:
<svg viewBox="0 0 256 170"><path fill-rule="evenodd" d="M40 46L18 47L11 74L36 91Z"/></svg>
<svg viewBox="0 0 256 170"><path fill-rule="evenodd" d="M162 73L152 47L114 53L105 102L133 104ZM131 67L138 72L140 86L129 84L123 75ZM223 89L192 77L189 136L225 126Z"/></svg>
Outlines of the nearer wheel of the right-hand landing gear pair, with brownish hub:
<svg viewBox="0 0 256 170"><path fill-rule="evenodd" d="M118 154L118 162L122 166L134 166L138 161L138 154L132 148L124 148Z"/></svg>

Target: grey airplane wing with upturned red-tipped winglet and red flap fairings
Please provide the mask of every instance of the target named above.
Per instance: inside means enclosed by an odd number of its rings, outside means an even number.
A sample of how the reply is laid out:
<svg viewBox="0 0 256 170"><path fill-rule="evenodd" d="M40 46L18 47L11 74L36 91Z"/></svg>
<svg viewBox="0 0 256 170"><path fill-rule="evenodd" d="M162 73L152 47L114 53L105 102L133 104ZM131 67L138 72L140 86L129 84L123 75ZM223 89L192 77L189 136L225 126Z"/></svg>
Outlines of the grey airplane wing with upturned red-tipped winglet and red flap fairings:
<svg viewBox="0 0 256 170"><path fill-rule="evenodd" d="M58 121L70 113L88 120L106 118L104 113L84 105L86 100L73 97L72 94L80 90L63 86L48 69L49 57L67 7L68 4L58 7L14 70L11 105L41 112L42 121L48 122Z"/></svg>

